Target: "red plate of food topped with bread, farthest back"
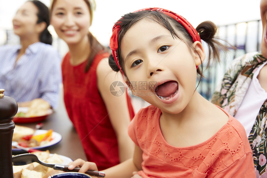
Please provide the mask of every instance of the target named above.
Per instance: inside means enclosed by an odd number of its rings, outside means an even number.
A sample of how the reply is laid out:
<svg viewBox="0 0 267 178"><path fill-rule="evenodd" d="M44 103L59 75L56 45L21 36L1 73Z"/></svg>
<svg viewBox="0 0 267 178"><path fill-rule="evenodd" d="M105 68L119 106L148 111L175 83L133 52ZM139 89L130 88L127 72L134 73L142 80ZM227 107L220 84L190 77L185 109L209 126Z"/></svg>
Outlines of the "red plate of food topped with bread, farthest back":
<svg viewBox="0 0 267 178"><path fill-rule="evenodd" d="M43 121L53 113L50 104L41 98L30 102L29 107L18 107L17 114L13 117L14 123L30 123Z"/></svg>

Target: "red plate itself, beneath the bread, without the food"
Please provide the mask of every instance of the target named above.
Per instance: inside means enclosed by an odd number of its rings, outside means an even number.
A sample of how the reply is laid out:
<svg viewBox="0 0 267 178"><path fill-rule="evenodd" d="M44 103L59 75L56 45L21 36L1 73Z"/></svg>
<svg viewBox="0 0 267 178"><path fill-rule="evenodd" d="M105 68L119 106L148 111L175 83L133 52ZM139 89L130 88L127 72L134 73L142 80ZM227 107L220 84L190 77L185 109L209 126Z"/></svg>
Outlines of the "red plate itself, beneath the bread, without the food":
<svg viewBox="0 0 267 178"><path fill-rule="evenodd" d="M27 112L28 107L19 107L18 112ZM40 122L46 119L47 116L51 115L53 113L52 109L48 109L47 115L44 116L36 116L36 117L14 117L13 122L14 123L30 123L30 122Z"/></svg>

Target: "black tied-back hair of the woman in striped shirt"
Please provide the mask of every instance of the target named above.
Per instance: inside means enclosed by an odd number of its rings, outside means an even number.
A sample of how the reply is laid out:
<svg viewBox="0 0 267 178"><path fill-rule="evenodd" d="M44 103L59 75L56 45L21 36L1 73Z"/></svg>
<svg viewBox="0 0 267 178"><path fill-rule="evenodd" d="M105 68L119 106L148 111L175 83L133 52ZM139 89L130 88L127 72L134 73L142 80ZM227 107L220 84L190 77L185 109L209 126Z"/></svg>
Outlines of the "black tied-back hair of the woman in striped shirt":
<svg viewBox="0 0 267 178"><path fill-rule="evenodd" d="M44 5L42 2L38 1L38 0L32 0L29 1L34 3L34 5L38 8L38 13L37 13L37 24L41 23L41 22L45 22L46 23L46 28L41 32L40 36L39 36L39 40L42 43L46 43L46 44L52 44L52 35L50 34L50 32L48 31L48 26L50 25L50 20L49 20L49 10L48 7L46 5Z"/></svg>

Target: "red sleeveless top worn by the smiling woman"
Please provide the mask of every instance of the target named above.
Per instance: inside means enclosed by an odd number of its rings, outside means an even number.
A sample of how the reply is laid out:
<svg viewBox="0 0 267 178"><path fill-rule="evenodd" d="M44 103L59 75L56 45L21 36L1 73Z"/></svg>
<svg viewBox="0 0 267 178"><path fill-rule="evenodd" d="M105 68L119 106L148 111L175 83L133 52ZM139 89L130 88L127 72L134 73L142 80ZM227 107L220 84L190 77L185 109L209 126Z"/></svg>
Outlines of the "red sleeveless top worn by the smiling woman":
<svg viewBox="0 0 267 178"><path fill-rule="evenodd" d="M97 89L97 65L108 56L108 53L97 54L86 73L84 68L87 61L78 66L72 66L69 52L62 61L66 110L81 139L88 161L95 162L99 170L120 163L116 134L105 103ZM128 95L127 100L132 119L134 109Z"/></svg>

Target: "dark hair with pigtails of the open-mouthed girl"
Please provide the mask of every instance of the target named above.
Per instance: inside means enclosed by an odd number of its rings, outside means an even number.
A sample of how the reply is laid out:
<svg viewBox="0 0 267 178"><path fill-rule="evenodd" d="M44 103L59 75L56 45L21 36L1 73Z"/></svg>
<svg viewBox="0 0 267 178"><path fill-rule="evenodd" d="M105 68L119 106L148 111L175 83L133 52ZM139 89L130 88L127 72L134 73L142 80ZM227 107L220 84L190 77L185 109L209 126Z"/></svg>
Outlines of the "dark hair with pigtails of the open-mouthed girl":
<svg viewBox="0 0 267 178"><path fill-rule="evenodd" d="M188 45L189 48L195 50L192 46L193 40L192 37L189 35L187 30L181 25L179 22L175 21L172 17L165 15L159 11L138 11L134 13L125 14L123 18L121 18L115 25L120 25L120 32L118 36L118 49L117 55L119 58L119 63L124 72L125 77L126 73L124 70L124 61L121 60L121 49L120 43L124 36L124 34L129 30L129 28L134 25L139 20L147 18L149 20L155 21L168 29L172 34L173 38L179 38L184 43ZM199 33L200 38L207 43L209 49L209 57L208 57L208 64L210 64L210 59L212 58L215 62L219 62L219 52L220 50L227 51L227 46L223 45L219 42L218 38L215 37L217 32L216 25L211 21L205 21L199 24L196 28L197 32ZM178 33L176 33L178 31ZM202 61L202 60L201 60ZM112 55L109 57L109 65L114 71L119 71L119 67L116 65L115 60ZM197 69L197 73L202 76L202 71L200 67Z"/></svg>

